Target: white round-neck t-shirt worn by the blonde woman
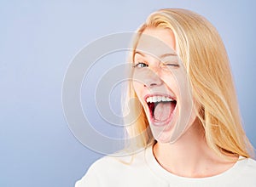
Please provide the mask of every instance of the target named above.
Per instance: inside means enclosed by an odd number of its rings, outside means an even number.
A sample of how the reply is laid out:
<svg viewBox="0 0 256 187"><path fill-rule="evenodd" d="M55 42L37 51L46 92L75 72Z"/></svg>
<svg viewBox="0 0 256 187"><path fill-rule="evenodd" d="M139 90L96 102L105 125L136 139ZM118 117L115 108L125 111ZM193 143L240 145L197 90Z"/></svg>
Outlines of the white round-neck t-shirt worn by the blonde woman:
<svg viewBox="0 0 256 187"><path fill-rule="evenodd" d="M91 165L75 187L256 187L256 161L244 159L224 173L207 178L184 178L167 172L155 160L152 146L131 156L104 156Z"/></svg>

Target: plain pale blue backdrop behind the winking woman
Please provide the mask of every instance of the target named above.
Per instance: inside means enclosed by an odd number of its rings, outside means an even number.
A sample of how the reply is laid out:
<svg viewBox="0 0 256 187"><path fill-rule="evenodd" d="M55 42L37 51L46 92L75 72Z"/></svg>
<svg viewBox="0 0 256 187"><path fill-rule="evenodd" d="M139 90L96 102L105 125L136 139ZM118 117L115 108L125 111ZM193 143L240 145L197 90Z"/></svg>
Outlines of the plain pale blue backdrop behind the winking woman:
<svg viewBox="0 0 256 187"><path fill-rule="evenodd" d="M217 27L230 56L244 127L256 145L255 1L6 0L0 2L0 186L73 186L102 156L68 128L61 106L65 72L86 44L135 31L158 8L189 8ZM113 107L119 111L119 104ZM111 129L102 126L102 132Z"/></svg>

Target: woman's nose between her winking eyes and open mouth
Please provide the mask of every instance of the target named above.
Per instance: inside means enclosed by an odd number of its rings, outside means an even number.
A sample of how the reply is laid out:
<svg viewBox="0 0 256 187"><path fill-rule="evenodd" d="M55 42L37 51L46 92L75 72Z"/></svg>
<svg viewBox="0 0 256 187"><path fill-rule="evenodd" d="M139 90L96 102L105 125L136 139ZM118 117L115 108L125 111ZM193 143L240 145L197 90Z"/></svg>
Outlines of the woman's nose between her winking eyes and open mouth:
<svg viewBox="0 0 256 187"><path fill-rule="evenodd" d="M162 85L163 81L157 71L148 70L143 83L144 87L152 88Z"/></svg>

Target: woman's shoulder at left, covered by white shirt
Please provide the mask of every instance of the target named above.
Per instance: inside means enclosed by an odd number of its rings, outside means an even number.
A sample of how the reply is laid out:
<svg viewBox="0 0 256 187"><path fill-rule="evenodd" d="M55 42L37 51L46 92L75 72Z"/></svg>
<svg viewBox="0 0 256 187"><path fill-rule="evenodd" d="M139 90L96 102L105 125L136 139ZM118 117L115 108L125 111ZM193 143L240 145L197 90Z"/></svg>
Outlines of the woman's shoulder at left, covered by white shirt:
<svg viewBox="0 0 256 187"><path fill-rule="evenodd" d="M132 185L135 183L134 178L148 175L151 172L145 161L145 150L130 156L104 156L90 166L84 177L76 183L76 187L124 186L124 181Z"/></svg>

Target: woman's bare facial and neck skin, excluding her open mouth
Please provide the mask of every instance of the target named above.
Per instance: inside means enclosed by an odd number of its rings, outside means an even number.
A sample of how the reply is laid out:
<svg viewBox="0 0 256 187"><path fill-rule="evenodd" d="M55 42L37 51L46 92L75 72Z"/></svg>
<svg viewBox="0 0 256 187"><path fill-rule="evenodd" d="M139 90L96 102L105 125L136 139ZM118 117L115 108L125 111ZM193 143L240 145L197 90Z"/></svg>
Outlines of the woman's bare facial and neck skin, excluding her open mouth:
<svg viewBox="0 0 256 187"><path fill-rule="evenodd" d="M197 107L194 107L195 102L191 97L183 65L165 65L163 62L178 61L175 61L172 55L171 59L159 58L161 54L176 52L172 31L147 28L143 34L157 38L165 44L141 39L137 45L137 51L140 53L134 57L135 65L143 62L135 67L133 86L148 117L154 139L157 140L153 147L155 159L167 171L182 177L203 178L223 173L235 162L224 160L207 146L203 127L195 115ZM155 126L154 122L151 122L145 102L145 95L156 93L172 94L177 99L177 109L172 120L163 127ZM189 111L186 111L186 108L189 108ZM186 120L183 121L183 118Z"/></svg>

